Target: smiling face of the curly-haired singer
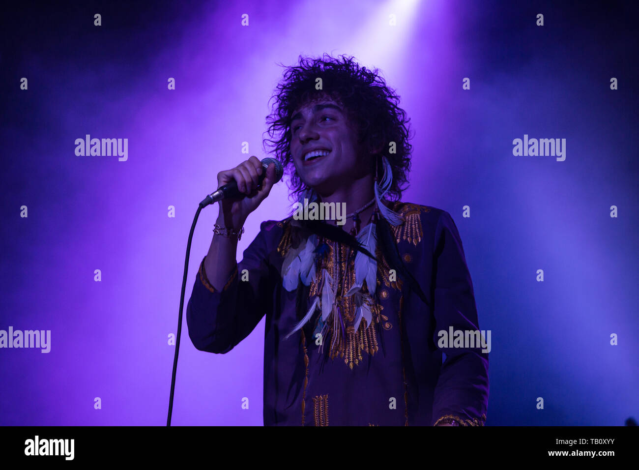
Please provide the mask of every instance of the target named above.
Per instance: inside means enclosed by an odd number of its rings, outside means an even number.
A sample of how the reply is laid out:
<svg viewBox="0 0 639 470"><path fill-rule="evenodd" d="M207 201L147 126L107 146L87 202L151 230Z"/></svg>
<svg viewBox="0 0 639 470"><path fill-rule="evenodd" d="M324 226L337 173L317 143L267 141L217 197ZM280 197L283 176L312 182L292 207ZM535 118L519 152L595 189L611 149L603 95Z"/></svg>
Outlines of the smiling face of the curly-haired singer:
<svg viewBox="0 0 639 470"><path fill-rule="evenodd" d="M319 194L332 194L370 173L343 106L325 97L299 107L291 119L291 155L297 175Z"/></svg>

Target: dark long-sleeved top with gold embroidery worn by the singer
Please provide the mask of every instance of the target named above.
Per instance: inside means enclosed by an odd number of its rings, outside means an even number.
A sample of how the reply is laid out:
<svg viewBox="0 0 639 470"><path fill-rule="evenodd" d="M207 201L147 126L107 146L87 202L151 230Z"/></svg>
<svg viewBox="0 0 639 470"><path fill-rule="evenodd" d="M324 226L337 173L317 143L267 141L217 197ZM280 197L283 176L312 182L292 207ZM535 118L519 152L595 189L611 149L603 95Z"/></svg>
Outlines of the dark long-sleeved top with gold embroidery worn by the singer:
<svg viewBox="0 0 639 470"><path fill-rule="evenodd" d="M354 331L353 297L341 294L355 280L355 253L335 244L335 268L329 244L327 256L318 261L316 281L301 302L307 311L318 294L321 267L339 270L343 287L337 301L343 321L336 327L335 341L318 337L319 311L307 327L284 338L301 318L296 308L299 292L284 289L281 277L295 230L291 217L261 224L221 291L208 283L202 260L187 306L189 336L197 349L229 352L266 315L265 425L484 424L488 354L481 345L438 346L440 331L479 330L457 227L450 214L438 208L401 201L392 208L405 219L392 227L399 255L427 303L390 270L378 251L373 320L370 327L362 320ZM248 281L241 280L243 270Z"/></svg>

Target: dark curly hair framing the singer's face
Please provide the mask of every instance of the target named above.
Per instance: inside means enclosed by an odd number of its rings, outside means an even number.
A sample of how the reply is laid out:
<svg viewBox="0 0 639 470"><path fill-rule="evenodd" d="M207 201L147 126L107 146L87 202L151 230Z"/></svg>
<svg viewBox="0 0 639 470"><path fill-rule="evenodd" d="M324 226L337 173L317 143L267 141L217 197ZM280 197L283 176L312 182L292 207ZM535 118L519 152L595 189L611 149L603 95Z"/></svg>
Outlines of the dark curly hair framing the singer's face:
<svg viewBox="0 0 639 470"><path fill-rule="evenodd" d="M322 97L333 98L344 106L350 123L357 129L357 141L363 145L366 155L384 155L389 159L393 182L385 198L401 198L402 191L408 187L410 171L410 119L398 106L399 95L387 86L379 74L377 68L360 68L353 56L346 55L339 58L329 54L321 58L300 56L298 65L286 67L284 78L268 100L269 104L273 99L275 102L271 113L266 116L269 127L265 134L268 133L269 138L263 139L262 143L265 150L267 146L272 148L268 153L272 153L289 173L289 196L293 200L307 187L295 171L290 152L291 116L298 107ZM324 90L315 89L318 77L322 79ZM395 153L390 153L390 142L395 143ZM378 164L381 178L381 158L371 159L371 172L375 169L374 161Z"/></svg>

